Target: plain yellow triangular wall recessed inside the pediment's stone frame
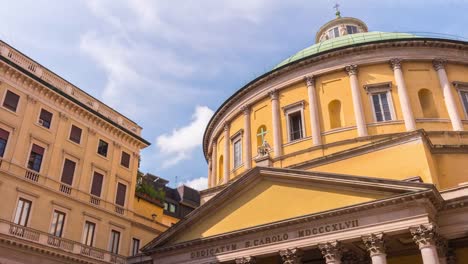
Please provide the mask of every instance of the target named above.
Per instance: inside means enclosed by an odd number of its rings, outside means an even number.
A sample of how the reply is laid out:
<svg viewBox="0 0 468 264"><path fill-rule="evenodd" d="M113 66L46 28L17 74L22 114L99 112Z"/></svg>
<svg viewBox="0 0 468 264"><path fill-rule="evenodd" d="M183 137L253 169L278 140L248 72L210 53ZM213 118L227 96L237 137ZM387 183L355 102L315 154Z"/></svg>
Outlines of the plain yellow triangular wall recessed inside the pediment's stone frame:
<svg viewBox="0 0 468 264"><path fill-rule="evenodd" d="M199 221L197 226L177 238L177 242L383 198L381 194L265 179L253 185L253 188L232 197L226 206Z"/></svg>

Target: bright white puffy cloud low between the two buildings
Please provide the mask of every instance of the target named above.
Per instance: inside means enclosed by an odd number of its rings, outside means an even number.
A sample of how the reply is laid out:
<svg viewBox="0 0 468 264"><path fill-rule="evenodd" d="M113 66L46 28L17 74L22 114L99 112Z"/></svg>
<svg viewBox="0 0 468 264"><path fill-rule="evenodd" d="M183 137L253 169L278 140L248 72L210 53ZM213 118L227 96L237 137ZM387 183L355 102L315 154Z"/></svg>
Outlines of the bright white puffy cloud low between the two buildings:
<svg viewBox="0 0 468 264"><path fill-rule="evenodd" d="M211 116L213 110L206 106L197 106L188 125L174 129L169 135L162 134L157 137L156 145L164 156L163 168L190 158L192 151L201 145L203 132Z"/></svg>

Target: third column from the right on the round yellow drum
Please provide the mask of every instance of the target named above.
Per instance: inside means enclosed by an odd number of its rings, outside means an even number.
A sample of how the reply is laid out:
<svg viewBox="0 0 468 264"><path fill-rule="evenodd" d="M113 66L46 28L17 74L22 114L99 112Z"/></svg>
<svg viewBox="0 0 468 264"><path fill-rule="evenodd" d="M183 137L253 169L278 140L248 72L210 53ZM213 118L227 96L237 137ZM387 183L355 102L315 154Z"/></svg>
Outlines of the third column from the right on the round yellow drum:
<svg viewBox="0 0 468 264"><path fill-rule="evenodd" d="M367 136L366 119L362 108L361 92L359 91L359 82L357 79L357 65L349 65L345 68L349 75L349 84L351 85L351 95L353 97L354 118L359 137Z"/></svg>

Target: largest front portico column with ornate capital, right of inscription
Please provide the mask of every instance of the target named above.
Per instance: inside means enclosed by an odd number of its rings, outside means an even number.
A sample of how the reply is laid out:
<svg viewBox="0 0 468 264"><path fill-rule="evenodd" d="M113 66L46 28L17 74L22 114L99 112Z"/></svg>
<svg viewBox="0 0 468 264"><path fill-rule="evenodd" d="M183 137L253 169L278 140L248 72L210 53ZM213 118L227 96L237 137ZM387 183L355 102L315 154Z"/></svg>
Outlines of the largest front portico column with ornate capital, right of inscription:
<svg viewBox="0 0 468 264"><path fill-rule="evenodd" d="M424 224L410 228L413 240L421 251L424 264L440 264L436 247L436 226Z"/></svg>

